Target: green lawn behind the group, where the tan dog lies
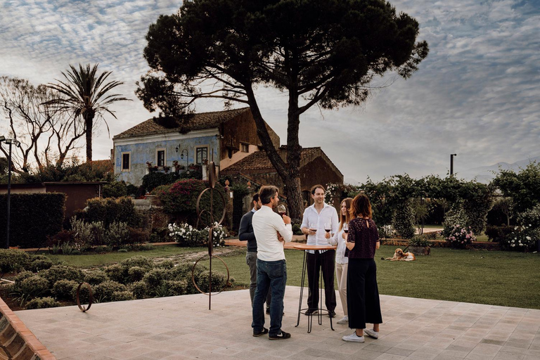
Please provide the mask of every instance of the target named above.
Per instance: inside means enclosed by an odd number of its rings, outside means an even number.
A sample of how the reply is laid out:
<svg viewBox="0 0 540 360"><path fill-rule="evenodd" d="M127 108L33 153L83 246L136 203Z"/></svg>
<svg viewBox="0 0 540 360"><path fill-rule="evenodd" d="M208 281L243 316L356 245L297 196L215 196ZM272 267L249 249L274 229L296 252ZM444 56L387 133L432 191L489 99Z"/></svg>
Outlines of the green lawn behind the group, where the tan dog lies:
<svg viewBox="0 0 540 360"><path fill-rule="evenodd" d="M380 259L391 257L394 250L383 245L375 255L381 294L540 309L538 254L433 248L430 256L415 262ZM300 251L285 250L287 285L300 285L302 256ZM224 261L237 283L250 282L245 253ZM214 264L217 271L224 271L221 264Z"/></svg>

